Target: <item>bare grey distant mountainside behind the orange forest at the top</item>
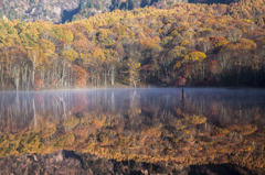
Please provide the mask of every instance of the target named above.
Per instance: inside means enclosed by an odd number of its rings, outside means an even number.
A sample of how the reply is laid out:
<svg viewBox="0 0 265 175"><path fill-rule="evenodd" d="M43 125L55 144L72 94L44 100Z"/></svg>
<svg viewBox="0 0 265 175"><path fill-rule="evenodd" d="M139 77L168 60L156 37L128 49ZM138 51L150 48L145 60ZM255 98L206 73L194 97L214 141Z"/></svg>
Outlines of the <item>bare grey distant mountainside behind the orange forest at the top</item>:
<svg viewBox="0 0 265 175"><path fill-rule="evenodd" d="M0 19L64 23L76 18L153 6L165 9L176 2L231 3L239 0L0 0Z"/></svg>

